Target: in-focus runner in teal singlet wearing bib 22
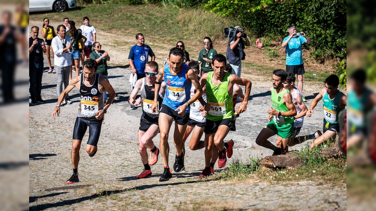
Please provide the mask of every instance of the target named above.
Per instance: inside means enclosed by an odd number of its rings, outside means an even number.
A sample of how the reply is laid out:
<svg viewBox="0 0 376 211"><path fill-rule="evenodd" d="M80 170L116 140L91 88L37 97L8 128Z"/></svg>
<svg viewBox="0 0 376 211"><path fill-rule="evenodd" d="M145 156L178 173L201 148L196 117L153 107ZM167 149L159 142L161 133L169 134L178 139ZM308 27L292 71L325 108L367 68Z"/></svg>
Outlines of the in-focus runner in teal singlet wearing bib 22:
<svg viewBox="0 0 376 211"><path fill-rule="evenodd" d="M347 104L346 95L338 90L340 80L337 75L330 75L327 77L324 84L325 88L321 89L320 93L318 93L318 95L312 100L311 107L306 114L307 117L311 117L317 102L323 99L324 133L311 143L311 149L316 145L323 143L325 140L335 138L340 129L338 116Z"/></svg>

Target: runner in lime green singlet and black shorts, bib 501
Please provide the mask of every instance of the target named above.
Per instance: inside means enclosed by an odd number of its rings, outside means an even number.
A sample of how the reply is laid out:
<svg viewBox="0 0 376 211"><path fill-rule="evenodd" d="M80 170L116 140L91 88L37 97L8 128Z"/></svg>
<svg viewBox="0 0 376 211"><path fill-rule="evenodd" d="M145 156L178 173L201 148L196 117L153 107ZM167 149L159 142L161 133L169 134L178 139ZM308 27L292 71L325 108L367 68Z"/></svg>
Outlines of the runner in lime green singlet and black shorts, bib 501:
<svg viewBox="0 0 376 211"><path fill-rule="evenodd" d="M252 83L249 80L240 78L237 75L224 72L226 68L226 57L217 54L213 57L213 71L204 73L200 79L203 92L206 92L205 102L202 97L199 98L202 106L200 110L206 110L205 125L205 169L199 176L203 178L212 174L211 160L212 151L218 148L218 167L223 168L226 165L227 157L232 155L233 142L224 143L223 139L229 132L233 120L232 92L233 85L239 84L246 86L246 93L243 102L236 108L237 113L247 110L249 94ZM215 163L215 160L214 160Z"/></svg>

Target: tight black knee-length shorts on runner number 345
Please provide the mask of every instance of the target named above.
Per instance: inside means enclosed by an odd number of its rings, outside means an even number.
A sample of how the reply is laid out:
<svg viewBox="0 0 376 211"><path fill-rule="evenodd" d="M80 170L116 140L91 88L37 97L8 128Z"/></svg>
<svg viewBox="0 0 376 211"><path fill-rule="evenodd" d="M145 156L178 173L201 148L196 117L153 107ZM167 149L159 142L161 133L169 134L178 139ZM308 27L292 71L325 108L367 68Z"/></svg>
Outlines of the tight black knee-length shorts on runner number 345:
<svg viewBox="0 0 376 211"><path fill-rule="evenodd" d="M86 129L89 126L89 140L88 145L97 146L100 130L102 128L103 121L91 121L83 117L77 117L76 123L74 123L73 139L82 141L83 136L86 133Z"/></svg>

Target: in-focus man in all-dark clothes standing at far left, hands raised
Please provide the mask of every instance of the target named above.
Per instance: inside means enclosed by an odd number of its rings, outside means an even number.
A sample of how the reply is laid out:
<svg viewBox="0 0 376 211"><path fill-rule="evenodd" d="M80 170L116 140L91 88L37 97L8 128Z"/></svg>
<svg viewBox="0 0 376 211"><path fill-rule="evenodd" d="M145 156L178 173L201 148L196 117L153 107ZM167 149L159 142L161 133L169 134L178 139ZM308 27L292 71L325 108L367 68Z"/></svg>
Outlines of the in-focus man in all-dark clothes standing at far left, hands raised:
<svg viewBox="0 0 376 211"><path fill-rule="evenodd" d="M45 101L41 98L42 89L42 75L43 75L43 53L47 52L44 41L38 38L39 27L31 27L31 37L29 38L29 57L30 57L30 95L31 104L44 104Z"/></svg>

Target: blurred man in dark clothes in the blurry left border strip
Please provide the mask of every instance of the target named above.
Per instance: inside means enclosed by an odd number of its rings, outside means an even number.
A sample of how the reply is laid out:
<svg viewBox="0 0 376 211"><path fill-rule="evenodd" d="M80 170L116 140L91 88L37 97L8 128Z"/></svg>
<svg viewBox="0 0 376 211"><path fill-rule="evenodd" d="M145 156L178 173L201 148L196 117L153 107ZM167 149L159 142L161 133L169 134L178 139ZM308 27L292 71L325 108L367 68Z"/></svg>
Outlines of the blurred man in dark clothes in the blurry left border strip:
<svg viewBox="0 0 376 211"><path fill-rule="evenodd" d="M18 32L11 25L11 17L11 12L4 11L3 24L0 26L0 70L2 71L2 91L5 103L15 100L13 87Z"/></svg>

